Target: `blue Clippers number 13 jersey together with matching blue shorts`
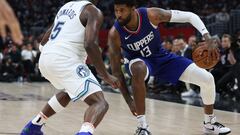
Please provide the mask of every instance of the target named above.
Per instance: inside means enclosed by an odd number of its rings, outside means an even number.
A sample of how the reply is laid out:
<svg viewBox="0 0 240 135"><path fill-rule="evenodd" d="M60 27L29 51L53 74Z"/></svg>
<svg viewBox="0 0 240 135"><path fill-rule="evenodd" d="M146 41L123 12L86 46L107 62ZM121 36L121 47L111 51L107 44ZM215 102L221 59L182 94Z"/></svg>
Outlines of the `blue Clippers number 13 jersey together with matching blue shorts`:
<svg viewBox="0 0 240 135"><path fill-rule="evenodd" d="M192 61L169 53L162 47L159 28L149 21L147 8L138 8L137 14L139 24L134 32L121 26L118 21L114 24L120 35L123 57L129 61L140 58L147 65L150 75L176 83ZM126 68L129 70L128 64Z"/></svg>

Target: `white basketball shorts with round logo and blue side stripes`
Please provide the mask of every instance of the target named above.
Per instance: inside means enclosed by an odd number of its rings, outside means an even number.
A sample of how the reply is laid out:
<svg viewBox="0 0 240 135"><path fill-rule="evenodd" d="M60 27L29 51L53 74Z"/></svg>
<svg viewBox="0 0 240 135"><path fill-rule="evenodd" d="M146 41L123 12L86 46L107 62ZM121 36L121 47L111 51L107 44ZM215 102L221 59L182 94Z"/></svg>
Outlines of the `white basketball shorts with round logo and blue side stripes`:
<svg viewBox="0 0 240 135"><path fill-rule="evenodd" d="M65 89L73 101L84 101L89 95L102 91L90 69L77 57L41 54L39 69L56 89Z"/></svg>

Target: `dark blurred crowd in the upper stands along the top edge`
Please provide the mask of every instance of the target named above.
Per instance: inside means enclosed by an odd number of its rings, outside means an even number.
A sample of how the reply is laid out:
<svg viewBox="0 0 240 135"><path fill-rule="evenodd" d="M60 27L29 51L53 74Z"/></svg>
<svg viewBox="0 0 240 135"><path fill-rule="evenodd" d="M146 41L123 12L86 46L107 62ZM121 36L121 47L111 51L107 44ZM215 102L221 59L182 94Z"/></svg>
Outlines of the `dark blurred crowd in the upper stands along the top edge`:
<svg viewBox="0 0 240 135"><path fill-rule="evenodd" d="M52 24L58 9L70 0L9 0L21 20L25 35L42 33ZM232 9L240 9L239 0L137 0L138 6L161 7L164 9L178 9L192 11L200 17L216 15L217 20L229 19ZM97 7L101 9L104 18L104 29L109 29L114 23L113 0L99 0Z"/></svg>

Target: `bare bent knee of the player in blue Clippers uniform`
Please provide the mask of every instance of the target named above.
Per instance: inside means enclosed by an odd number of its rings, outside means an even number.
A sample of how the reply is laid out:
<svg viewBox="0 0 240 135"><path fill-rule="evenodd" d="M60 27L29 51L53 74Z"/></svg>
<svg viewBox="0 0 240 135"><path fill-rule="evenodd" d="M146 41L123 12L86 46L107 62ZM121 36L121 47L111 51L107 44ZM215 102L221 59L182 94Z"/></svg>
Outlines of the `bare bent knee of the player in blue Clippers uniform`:
<svg viewBox="0 0 240 135"><path fill-rule="evenodd" d="M147 66L144 62L139 61L131 66L131 72L134 78L144 79L147 73Z"/></svg>

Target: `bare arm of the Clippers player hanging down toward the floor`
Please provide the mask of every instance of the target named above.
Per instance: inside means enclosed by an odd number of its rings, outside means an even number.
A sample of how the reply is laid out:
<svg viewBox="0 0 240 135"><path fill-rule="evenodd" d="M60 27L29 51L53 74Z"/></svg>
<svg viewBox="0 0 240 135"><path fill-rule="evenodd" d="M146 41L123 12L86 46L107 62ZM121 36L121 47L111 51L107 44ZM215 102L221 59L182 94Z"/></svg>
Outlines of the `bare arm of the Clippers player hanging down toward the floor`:
<svg viewBox="0 0 240 135"><path fill-rule="evenodd" d="M115 27L112 27L108 34L108 46L109 46L109 58L111 63L111 69L114 76L118 78L121 83L121 87L119 87L125 101L127 102L131 112L133 115L136 114L135 104L133 99L128 91L128 87L126 85L126 81L121 70L121 41L118 32Z"/></svg>

